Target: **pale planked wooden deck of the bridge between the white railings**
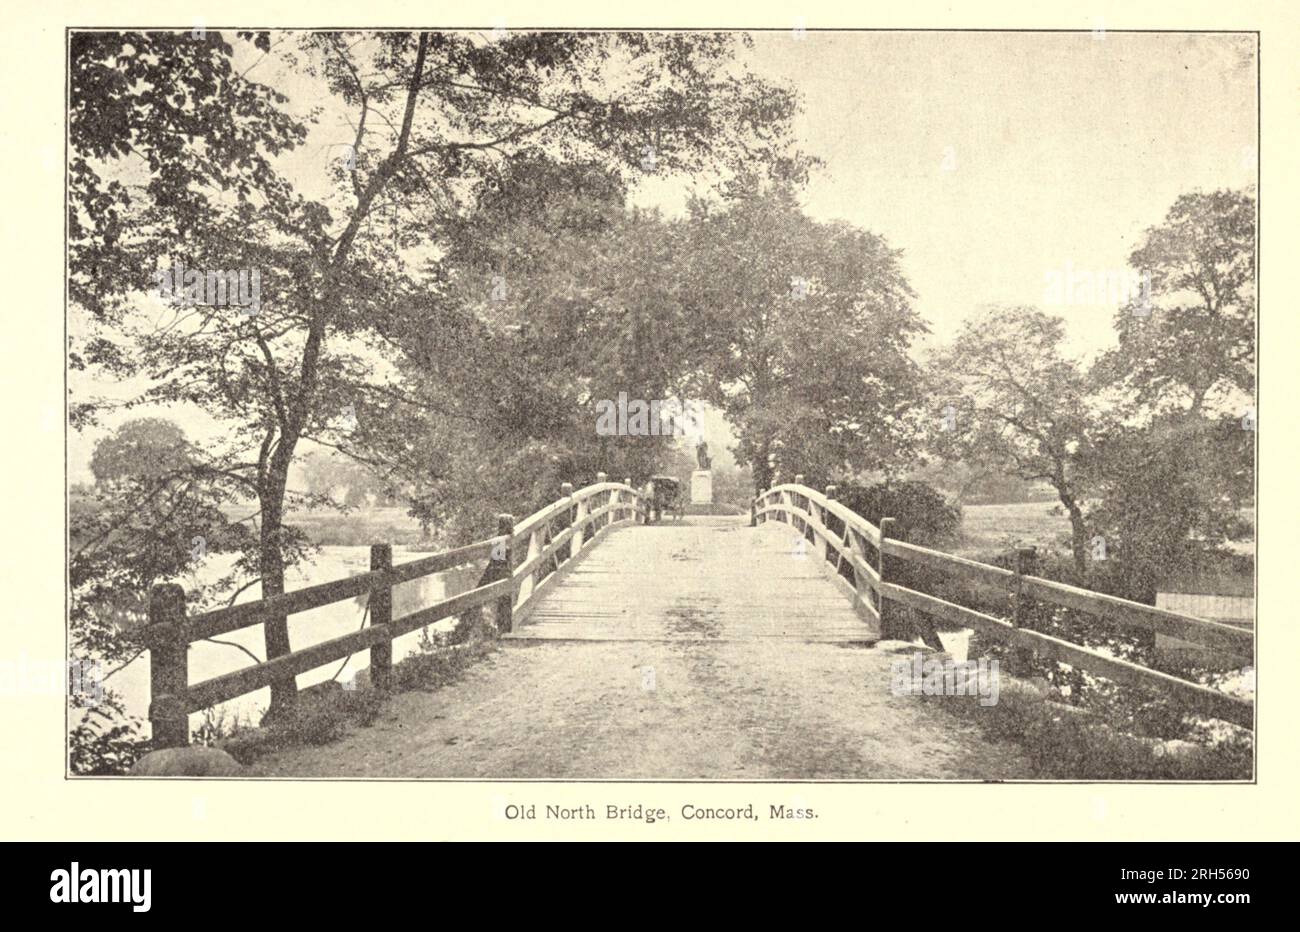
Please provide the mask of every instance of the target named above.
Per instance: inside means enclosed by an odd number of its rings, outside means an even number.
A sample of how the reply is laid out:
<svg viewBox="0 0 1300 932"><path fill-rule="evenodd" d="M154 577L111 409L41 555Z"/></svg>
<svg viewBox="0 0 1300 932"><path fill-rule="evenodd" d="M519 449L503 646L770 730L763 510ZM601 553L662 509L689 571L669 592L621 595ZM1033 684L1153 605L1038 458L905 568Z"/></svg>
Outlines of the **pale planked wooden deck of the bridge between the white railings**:
<svg viewBox="0 0 1300 932"><path fill-rule="evenodd" d="M785 525L748 517L615 528L538 595L514 640L874 641Z"/></svg>

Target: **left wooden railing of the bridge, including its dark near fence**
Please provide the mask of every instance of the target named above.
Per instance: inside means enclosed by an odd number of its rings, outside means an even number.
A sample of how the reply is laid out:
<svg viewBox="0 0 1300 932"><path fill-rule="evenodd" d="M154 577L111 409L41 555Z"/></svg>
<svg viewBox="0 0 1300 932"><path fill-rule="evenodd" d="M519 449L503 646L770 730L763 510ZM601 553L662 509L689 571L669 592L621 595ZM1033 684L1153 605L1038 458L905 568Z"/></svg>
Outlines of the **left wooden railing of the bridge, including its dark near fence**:
<svg viewBox="0 0 1300 932"><path fill-rule="evenodd" d="M538 593L564 564L590 547L616 524L645 513L641 493L629 481L607 482L578 491L564 484L559 500L515 524L512 515L498 516L497 534L484 541L393 565L393 547L370 547L370 571L320 585L272 595L256 602L186 616L185 590L162 584L150 594L150 623L144 643L150 649L150 721L155 747L178 747L190 742L188 716L204 708L285 681L326 663L363 650L370 651L370 684L387 690L393 682L393 640L425 625L493 604L497 629L514 630L536 604ZM519 554L519 558L516 558ZM424 576L441 573L486 559L477 586L393 617L393 588ZM369 624L341 637L295 650L265 663L202 682L188 681L188 647L195 641L229 634L321 606L368 597Z"/></svg>

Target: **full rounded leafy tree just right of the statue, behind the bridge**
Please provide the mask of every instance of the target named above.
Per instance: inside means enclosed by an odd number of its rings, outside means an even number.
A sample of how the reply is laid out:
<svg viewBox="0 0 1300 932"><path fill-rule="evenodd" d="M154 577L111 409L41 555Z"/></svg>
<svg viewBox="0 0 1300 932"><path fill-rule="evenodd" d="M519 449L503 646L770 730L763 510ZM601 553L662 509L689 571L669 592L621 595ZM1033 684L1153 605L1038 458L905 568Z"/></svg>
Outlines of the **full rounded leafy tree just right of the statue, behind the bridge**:
<svg viewBox="0 0 1300 932"><path fill-rule="evenodd" d="M688 380L740 438L757 490L775 471L814 481L879 468L906 443L924 324L898 252L846 224L818 224L786 187L733 188L692 207L682 274L703 365Z"/></svg>

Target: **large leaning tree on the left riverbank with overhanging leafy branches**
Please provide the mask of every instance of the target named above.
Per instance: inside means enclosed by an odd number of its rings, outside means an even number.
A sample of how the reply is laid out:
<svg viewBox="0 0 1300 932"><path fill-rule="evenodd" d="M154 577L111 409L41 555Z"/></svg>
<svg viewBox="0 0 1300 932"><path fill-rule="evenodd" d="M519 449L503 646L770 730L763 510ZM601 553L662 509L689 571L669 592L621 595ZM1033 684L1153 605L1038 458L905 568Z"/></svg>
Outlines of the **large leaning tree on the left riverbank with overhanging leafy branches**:
<svg viewBox="0 0 1300 932"><path fill-rule="evenodd" d="M240 38L273 51L265 34ZM367 439L400 429L364 421L384 411L387 386L360 351L389 354L380 331L424 324L407 308L429 282L413 281L404 251L436 251L480 179L538 151L623 173L645 170L647 156L666 172L802 170L789 149L793 96L737 74L729 35L289 38L307 64L281 62L355 114L351 157L335 165L328 201L303 198L277 172L273 157L306 129L283 95L234 66L222 35L92 32L72 47L72 295L104 330L72 364L146 374L138 400L196 404L230 425L209 465L257 498L264 595L285 589L299 442L364 456ZM130 157L143 169L124 164ZM142 326L130 312L161 257L257 269L273 298L254 316L198 307ZM84 422L95 408L74 415ZM287 654L287 620L264 629L268 658ZM294 695L292 677L272 685L273 707Z"/></svg>

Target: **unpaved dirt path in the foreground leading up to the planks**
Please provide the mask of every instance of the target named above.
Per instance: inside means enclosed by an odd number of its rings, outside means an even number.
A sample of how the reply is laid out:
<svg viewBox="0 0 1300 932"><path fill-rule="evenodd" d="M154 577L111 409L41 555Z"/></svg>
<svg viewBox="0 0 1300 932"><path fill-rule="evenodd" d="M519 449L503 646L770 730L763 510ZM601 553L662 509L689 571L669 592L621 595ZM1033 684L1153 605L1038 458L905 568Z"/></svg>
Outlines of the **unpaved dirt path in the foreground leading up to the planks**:
<svg viewBox="0 0 1300 932"><path fill-rule="evenodd" d="M458 684L257 776L1000 780L1009 745L889 689L914 647L792 641L504 642Z"/></svg>

